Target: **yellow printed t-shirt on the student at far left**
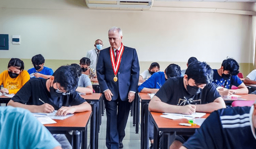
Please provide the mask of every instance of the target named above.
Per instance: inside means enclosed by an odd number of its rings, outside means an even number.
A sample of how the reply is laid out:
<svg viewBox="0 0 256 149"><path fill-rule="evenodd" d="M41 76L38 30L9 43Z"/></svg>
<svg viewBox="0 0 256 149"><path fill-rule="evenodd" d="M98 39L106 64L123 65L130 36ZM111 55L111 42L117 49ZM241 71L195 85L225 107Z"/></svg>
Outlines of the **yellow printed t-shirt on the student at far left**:
<svg viewBox="0 0 256 149"><path fill-rule="evenodd" d="M6 70L0 74L0 85L3 84L4 88L9 90L9 94L16 94L29 79L27 71L22 71L16 78L11 78Z"/></svg>

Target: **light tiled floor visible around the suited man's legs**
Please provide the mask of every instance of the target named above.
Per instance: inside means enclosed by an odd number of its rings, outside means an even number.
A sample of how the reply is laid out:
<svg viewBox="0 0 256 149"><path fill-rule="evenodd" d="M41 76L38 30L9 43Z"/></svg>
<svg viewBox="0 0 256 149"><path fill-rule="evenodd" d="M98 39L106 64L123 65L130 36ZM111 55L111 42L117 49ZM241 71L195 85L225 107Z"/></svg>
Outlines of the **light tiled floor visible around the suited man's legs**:
<svg viewBox="0 0 256 149"><path fill-rule="evenodd" d="M106 112L105 112L106 113ZM133 117L129 116L128 122L125 129L125 137L123 140L124 148L123 149L140 149L140 126L139 133L135 133L135 126L132 124ZM106 147L106 114L102 116L102 124L100 125L100 133L99 133L99 146L98 149L107 149ZM90 123L88 125L90 128ZM88 145L89 145L89 131L88 131Z"/></svg>

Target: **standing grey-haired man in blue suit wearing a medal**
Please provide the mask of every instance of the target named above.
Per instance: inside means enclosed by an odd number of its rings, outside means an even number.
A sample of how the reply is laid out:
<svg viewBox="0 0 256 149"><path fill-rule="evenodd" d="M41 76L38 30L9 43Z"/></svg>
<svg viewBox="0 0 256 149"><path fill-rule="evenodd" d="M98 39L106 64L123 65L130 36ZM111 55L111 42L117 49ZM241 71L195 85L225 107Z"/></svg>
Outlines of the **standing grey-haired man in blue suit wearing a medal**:
<svg viewBox="0 0 256 149"><path fill-rule="evenodd" d="M108 149L122 149L130 105L137 91L140 66L136 49L123 46L120 28L110 28L108 39L110 47L100 51L96 71L105 95L106 146Z"/></svg>

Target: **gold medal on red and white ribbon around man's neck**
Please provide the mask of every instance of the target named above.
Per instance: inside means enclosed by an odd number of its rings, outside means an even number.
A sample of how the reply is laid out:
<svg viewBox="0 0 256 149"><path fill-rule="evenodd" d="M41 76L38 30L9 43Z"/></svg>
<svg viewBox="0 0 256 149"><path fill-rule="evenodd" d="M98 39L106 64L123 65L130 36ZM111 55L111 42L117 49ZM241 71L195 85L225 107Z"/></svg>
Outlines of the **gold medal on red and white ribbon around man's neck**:
<svg viewBox="0 0 256 149"><path fill-rule="evenodd" d="M115 82L118 80L116 75L117 75L119 67L120 67L123 52L124 52L124 45L123 45L123 43L121 43L120 51L117 55L117 59L115 59L114 49L112 47L110 47L110 59L111 59L111 64L112 64L112 68L113 68L114 75L115 75L113 80Z"/></svg>

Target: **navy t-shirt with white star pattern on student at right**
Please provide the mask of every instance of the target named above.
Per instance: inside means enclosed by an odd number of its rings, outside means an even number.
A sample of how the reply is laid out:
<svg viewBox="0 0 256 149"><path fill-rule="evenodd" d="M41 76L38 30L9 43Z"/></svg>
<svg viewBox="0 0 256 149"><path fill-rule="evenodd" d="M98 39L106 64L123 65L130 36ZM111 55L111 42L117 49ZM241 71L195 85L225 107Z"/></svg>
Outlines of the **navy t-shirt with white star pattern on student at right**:
<svg viewBox="0 0 256 149"><path fill-rule="evenodd" d="M216 88L221 86L223 88L230 89L232 85L238 87L240 84L243 83L237 75L232 75L230 79L224 80L224 78L222 78L222 76L218 74L217 69L212 69L212 70L214 73L212 78L212 83Z"/></svg>

